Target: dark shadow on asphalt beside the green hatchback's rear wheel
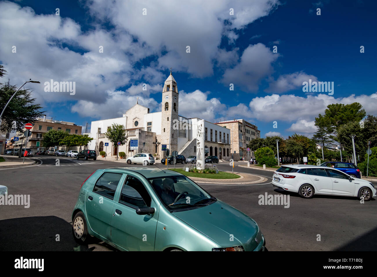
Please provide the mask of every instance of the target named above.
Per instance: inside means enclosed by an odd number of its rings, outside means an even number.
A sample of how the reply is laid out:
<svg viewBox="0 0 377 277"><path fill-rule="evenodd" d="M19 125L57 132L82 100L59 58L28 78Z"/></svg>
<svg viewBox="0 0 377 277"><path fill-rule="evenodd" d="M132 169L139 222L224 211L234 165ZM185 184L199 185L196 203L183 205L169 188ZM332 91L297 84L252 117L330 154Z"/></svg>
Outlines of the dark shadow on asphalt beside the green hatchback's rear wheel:
<svg viewBox="0 0 377 277"><path fill-rule="evenodd" d="M0 226L0 251L93 251L97 248L97 245L88 248L76 243L72 225L56 216L4 219L0 220ZM101 242L92 239L91 243ZM101 245L114 249L103 242Z"/></svg>

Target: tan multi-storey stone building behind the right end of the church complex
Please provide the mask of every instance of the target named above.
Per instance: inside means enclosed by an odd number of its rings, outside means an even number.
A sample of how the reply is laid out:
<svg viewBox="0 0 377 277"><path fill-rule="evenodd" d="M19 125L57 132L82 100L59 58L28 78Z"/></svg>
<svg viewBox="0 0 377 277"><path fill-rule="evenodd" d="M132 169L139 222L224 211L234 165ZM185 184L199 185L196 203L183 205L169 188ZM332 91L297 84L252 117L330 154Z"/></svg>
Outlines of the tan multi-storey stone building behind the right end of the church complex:
<svg viewBox="0 0 377 277"><path fill-rule="evenodd" d="M215 124L221 125L227 129L230 129L231 133L231 145L233 150L234 161L239 161L241 157L243 159L255 158L254 152L250 150L247 153L247 144L256 138L261 137L261 131L254 124L247 122L245 119L234 119L232 121L221 121Z"/></svg>

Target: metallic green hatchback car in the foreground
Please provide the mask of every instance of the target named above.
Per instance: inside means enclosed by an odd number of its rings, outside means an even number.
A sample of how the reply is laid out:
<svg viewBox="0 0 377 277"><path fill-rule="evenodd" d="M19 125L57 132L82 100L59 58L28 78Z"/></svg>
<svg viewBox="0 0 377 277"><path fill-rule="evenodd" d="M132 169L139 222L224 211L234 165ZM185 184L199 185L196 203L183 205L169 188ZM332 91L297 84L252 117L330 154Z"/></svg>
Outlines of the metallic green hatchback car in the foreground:
<svg viewBox="0 0 377 277"><path fill-rule="evenodd" d="M80 244L97 237L124 251L264 251L257 223L184 175L107 168L81 185L72 213Z"/></svg>

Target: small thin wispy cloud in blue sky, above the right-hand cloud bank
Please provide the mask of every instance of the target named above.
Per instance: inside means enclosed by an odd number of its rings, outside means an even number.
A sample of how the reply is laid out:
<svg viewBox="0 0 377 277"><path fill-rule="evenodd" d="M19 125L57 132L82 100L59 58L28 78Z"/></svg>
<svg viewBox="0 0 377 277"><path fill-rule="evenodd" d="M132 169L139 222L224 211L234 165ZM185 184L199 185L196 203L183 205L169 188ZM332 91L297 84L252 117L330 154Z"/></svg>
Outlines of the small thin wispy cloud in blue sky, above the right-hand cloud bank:
<svg viewBox="0 0 377 277"><path fill-rule="evenodd" d="M313 82L318 81L314 75L308 75L305 72L294 72L292 74L280 75L277 80L270 82L270 86L265 92L281 93L302 87L302 83L311 79Z"/></svg>

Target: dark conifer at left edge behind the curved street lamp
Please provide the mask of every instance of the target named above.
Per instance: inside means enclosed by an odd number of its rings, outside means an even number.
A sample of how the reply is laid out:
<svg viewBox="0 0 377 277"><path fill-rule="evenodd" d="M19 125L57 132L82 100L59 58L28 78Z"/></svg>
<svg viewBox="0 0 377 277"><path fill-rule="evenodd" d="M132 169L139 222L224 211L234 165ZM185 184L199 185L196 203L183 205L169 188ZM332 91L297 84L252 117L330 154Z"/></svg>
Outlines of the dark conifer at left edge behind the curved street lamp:
<svg viewBox="0 0 377 277"><path fill-rule="evenodd" d="M0 74L3 73L1 72ZM9 80L5 84L0 85L1 110L3 110L16 90L17 87L12 86ZM41 110L42 107L39 104L35 104L34 102L35 98L31 97L30 90L19 90L4 110L1 118L0 131L7 132L8 130L16 130L21 132L26 123L34 123L37 121L37 119L43 115L44 111ZM15 122L15 124L13 122Z"/></svg>

